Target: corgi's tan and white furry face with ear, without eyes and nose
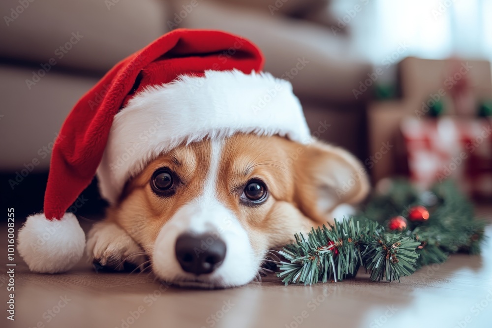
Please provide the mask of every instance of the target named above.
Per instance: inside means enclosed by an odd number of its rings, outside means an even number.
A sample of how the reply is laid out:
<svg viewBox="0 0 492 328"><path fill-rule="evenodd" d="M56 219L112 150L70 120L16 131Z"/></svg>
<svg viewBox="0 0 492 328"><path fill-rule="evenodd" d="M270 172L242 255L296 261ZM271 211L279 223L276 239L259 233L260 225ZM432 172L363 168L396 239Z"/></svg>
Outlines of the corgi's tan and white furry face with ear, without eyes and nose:
<svg viewBox="0 0 492 328"><path fill-rule="evenodd" d="M169 197L150 187L153 173L163 167L182 181ZM333 220L338 204L365 197L369 184L362 172L348 152L319 142L303 146L244 134L203 140L160 156L128 181L107 220L145 250L159 279L184 286L239 286L258 274L268 249ZM254 179L264 182L268 197L251 206L241 194ZM347 183L352 188L344 188ZM207 274L185 272L175 251L185 233L213 236L203 240L201 250L220 238L226 245L223 263Z"/></svg>

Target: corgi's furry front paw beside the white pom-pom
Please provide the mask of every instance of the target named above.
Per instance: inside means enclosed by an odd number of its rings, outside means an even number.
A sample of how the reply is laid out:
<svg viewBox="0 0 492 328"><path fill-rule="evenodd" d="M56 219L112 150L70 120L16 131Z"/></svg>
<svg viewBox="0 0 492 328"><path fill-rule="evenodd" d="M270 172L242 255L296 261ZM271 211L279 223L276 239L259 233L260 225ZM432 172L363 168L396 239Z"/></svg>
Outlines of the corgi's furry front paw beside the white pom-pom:
<svg viewBox="0 0 492 328"><path fill-rule="evenodd" d="M116 223L94 224L87 239L87 255L96 268L123 270L131 264L142 270L147 256L142 248Z"/></svg>

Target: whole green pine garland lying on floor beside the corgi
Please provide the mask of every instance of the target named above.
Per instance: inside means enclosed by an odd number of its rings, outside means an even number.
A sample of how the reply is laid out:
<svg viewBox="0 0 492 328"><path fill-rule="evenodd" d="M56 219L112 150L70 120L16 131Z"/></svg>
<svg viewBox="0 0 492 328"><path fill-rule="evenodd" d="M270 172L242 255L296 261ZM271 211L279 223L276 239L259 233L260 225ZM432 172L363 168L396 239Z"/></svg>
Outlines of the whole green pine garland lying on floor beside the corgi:
<svg viewBox="0 0 492 328"><path fill-rule="evenodd" d="M407 181L394 181L387 189L370 199L364 213L313 228L306 237L296 234L295 242L279 251L282 282L337 282L355 277L361 266L372 281L400 281L421 266L446 261L448 254L480 253L485 222L474 218L472 204L454 185L419 193ZM401 232L383 226L418 205L431 212L427 221L409 221Z"/></svg>

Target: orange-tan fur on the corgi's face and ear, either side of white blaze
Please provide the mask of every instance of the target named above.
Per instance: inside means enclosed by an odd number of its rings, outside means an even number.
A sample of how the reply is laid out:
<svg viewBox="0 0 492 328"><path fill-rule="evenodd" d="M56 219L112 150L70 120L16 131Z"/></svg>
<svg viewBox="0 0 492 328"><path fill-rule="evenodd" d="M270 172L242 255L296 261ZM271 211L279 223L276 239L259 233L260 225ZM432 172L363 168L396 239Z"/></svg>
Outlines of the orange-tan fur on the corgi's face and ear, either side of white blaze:
<svg viewBox="0 0 492 328"><path fill-rule="evenodd" d="M210 141L203 140L159 156L128 181L119 204L108 209L106 220L123 228L147 254L152 254L162 226L203 192L210 149ZM161 167L170 168L182 179L176 194L169 198L156 196L150 187L152 174ZM277 136L237 134L227 139L222 149L214 192L235 213L260 254L289 242L295 233L332 221L331 210L336 205L361 201L368 193L369 182L364 174L353 178L359 171L363 172L362 165L355 157L320 142L300 145ZM243 186L251 178L263 180L269 192L268 200L258 207L247 207L239 201ZM350 179L354 180L350 181L353 186L340 192ZM320 194L332 197L324 210L318 206ZM94 244L92 241L88 252L98 259L104 252L95 249ZM140 260L134 263L141 264Z"/></svg>

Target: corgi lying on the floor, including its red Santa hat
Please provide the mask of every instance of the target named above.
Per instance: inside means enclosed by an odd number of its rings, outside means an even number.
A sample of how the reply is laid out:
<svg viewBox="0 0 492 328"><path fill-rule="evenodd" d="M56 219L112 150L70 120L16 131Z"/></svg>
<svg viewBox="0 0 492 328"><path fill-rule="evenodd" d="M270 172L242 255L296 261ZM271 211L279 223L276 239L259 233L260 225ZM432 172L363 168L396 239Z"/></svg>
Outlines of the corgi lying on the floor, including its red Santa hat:
<svg viewBox="0 0 492 328"><path fill-rule="evenodd" d="M67 271L85 250L180 286L240 286L364 199L362 164L311 136L292 84L263 63L240 36L177 29L116 64L63 123L44 210L19 231L31 271ZM86 239L67 209L94 176L109 208Z"/></svg>

